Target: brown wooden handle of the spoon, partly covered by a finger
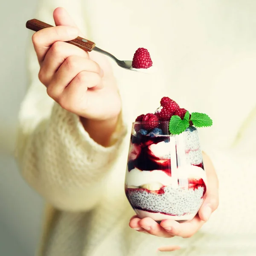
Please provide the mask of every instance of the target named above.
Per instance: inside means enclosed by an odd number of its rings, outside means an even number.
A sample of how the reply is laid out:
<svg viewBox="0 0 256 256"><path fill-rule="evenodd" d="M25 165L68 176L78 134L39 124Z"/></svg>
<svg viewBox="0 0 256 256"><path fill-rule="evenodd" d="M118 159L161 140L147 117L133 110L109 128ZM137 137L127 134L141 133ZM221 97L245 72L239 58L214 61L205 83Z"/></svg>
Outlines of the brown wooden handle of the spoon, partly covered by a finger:
<svg viewBox="0 0 256 256"><path fill-rule="evenodd" d="M50 28L50 27L52 27L52 25L49 25L49 24L44 23L43 21L37 20L37 19L28 20L26 22L26 28L31 29L33 31L38 31L38 30ZM87 39L81 38L80 36L78 36L74 40L67 41L67 43L76 45L77 47L79 47L87 52L91 52L93 50L93 48L95 47L95 43L93 43Z"/></svg>

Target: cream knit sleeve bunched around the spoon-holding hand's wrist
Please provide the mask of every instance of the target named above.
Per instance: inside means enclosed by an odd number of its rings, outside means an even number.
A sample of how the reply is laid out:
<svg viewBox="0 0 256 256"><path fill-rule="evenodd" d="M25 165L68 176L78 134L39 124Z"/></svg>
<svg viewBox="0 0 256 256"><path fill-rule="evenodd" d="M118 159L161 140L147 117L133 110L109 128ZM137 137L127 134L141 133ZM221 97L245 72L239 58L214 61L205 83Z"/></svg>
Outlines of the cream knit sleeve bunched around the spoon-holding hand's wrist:
<svg viewBox="0 0 256 256"><path fill-rule="evenodd" d="M25 104L29 104L29 98ZM25 108L20 114L17 148L23 177L58 209L93 207L101 196L101 182L111 172L121 148L125 131L122 121L116 131L119 138L110 147L103 147L84 131L78 116L57 104L52 106L49 118L27 131L23 124L29 128L29 120L23 111Z"/></svg>

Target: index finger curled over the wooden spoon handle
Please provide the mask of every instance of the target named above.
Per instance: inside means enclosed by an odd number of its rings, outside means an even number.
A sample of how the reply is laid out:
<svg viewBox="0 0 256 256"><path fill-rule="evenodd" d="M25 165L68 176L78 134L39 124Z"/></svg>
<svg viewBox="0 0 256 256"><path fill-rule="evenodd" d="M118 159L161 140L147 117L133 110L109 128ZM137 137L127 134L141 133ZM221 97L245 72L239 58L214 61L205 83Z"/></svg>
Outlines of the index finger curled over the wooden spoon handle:
<svg viewBox="0 0 256 256"><path fill-rule="evenodd" d="M41 65L44 57L56 41L70 41L78 36L78 29L71 26L53 26L41 29L32 36L35 52Z"/></svg>

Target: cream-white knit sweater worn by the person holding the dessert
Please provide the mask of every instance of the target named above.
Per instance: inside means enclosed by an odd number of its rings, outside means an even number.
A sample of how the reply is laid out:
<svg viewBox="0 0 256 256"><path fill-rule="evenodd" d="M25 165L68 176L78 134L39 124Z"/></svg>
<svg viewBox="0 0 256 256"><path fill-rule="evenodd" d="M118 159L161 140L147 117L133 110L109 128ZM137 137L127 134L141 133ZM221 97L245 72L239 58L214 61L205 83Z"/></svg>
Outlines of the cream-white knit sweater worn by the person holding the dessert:
<svg viewBox="0 0 256 256"><path fill-rule="evenodd" d="M63 6L98 47L121 59L145 47L156 69L145 75L111 62L123 117L104 148L47 96L31 47L17 157L23 177L49 205L41 256L154 256L167 244L182 249L160 255L256 255L256 3L160 2L41 0L36 18L53 24L52 11ZM131 122L154 111L162 96L214 121L200 137L218 173L220 205L189 239L128 226L134 214L124 193Z"/></svg>

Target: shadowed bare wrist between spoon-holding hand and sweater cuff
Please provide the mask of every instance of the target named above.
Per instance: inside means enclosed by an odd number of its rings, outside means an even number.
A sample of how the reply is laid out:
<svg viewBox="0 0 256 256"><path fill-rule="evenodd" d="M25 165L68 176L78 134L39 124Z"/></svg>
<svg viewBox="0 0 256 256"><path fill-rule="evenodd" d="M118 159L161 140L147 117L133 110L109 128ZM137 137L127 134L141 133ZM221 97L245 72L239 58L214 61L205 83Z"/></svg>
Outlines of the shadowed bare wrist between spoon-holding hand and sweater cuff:
<svg viewBox="0 0 256 256"><path fill-rule="evenodd" d="M118 117L119 115L106 120L95 120L79 116L84 130L87 131L87 133L96 143L105 147L109 146L110 144L111 136L116 130Z"/></svg>

